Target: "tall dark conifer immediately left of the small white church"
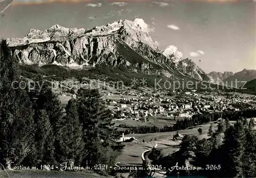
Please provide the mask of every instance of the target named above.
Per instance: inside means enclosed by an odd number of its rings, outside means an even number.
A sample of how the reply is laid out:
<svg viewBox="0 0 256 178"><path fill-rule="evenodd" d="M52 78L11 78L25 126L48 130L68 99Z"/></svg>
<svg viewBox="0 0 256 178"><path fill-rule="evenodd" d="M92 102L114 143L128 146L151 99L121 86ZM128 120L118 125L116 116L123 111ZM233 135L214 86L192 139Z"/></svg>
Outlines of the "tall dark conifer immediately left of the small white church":
<svg viewBox="0 0 256 178"><path fill-rule="evenodd" d="M88 154L83 162L88 165L113 164L115 151L112 149L114 136L110 111L106 109L98 90L78 91L78 114L83 126L83 140Z"/></svg>

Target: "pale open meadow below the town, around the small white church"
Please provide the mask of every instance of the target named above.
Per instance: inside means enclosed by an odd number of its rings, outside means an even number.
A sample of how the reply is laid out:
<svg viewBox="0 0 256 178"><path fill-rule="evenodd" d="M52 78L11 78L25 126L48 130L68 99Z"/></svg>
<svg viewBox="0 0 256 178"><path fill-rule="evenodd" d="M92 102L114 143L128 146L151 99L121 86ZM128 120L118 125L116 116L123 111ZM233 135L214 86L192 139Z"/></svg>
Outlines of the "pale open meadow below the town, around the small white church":
<svg viewBox="0 0 256 178"><path fill-rule="evenodd" d="M192 128L185 130L179 130L181 134L191 134L196 135L199 139L209 137L207 136L208 128L210 123L204 125L198 125ZM217 129L217 124L213 124L214 129ZM202 135L199 135L198 128L202 128ZM153 146L158 144L157 148L161 149L162 156L172 154L175 151L179 150L177 147L180 142L173 141L173 136L177 131L170 132L157 132L157 133L145 133L145 134L129 134L125 137L135 137L138 141L142 142L144 139L145 143L124 143L125 147L122 150L121 154L117 157L116 162L120 162L123 165L140 165L142 163L141 154L143 151L151 149Z"/></svg>

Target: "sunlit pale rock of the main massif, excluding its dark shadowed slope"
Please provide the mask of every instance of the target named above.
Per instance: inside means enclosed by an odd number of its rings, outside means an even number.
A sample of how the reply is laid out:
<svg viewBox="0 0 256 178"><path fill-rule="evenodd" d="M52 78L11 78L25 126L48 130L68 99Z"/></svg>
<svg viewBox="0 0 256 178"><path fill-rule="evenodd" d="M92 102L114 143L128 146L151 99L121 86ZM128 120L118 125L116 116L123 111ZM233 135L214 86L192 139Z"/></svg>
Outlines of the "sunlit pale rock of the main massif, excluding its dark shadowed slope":
<svg viewBox="0 0 256 178"><path fill-rule="evenodd" d="M150 35L130 20L93 29L68 29L59 25L44 31L31 29L24 38L9 38L7 43L19 62L40 65L53 62L67 66L102 62L115 65L122 61L118 48L123 43L132 48L140 48L144 43L156 53L159 51Z"/></svg>

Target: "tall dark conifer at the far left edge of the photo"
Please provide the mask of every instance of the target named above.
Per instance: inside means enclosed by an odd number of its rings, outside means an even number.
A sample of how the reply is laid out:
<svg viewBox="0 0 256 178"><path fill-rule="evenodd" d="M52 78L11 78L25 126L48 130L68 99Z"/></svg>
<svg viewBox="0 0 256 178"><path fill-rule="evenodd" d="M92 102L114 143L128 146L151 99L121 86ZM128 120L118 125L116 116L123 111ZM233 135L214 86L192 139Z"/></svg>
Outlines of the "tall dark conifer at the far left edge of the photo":
<svg viewBox="0 0 256 178"><path fill-rule="evenodd" d="M33 143L33 109L5 40L0 43L0 162L19 165ZM12 83L15 82L15 83Z"/></svg>

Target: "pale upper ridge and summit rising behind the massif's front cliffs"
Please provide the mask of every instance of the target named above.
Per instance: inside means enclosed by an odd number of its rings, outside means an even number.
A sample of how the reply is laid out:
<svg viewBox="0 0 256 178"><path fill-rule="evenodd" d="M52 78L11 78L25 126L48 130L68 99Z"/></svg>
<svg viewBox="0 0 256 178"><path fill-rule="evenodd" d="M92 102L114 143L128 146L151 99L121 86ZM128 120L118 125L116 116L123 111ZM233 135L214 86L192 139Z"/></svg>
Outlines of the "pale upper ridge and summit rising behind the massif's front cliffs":
<svg viewBox="0 0 256 178"><path fill-rule="evenodd" d="M7 39L7 43L9 47L15 47L49 40L63 42L66 40L73 40L74 38L81 36L97 37L116 35L130 46L136 47L137 42L142 42L150 46L155 51L159 51L156 43L152 40L149 31L145 27L147 27L147 24L143 19L139 18L136 18L134 21L126 19L118 20L112 24L94 27L93 29L69 29L59 25L54 25L44 31L31 29L24 38L9 38Z"/></svg>

